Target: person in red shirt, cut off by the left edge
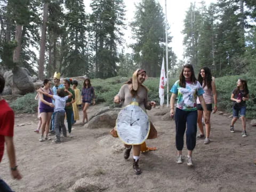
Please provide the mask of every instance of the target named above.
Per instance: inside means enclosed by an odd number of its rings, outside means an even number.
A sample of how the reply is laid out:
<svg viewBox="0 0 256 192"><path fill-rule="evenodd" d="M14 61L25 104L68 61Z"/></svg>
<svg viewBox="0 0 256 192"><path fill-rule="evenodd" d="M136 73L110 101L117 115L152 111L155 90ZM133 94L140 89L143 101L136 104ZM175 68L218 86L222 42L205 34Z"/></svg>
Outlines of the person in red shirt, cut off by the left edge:
<svg viewBox="0 0 256 192"><path fill-rule="evenodd" d="M4 90L5 80L0 75L0 162L4 155L4 143L6 143L7 154L10 162L10 169L13 179L21 179L17 169L15 149L13 143L14 112L8 103L1 97ZM1 191L12 191L11 188L0 178Z"/></svg>

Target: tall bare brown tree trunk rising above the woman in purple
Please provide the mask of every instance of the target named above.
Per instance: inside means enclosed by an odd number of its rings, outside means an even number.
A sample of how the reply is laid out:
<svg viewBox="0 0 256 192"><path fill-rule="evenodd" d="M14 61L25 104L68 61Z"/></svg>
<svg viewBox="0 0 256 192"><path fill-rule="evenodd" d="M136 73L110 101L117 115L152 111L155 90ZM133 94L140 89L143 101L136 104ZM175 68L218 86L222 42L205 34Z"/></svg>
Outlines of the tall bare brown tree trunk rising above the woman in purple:
<svg viewBox="0 0 256 192"><path fill-rule="evenodd" d="M43 25L42 25L42 35L40 43L40 55L38 62L38 78L43 80L44 77L44 55L45 55L45 42L46 42L46 22L48 18L48 7L49 3L44 4L44 15L43 15Z"/></svg>

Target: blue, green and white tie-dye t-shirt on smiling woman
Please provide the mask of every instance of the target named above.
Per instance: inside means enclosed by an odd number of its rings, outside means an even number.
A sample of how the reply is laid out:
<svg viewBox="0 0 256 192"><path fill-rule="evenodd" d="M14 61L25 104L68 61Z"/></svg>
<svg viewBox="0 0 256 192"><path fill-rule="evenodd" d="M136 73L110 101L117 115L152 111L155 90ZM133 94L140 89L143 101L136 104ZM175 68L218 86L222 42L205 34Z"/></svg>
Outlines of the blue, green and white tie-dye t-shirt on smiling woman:
<svg viewBox="0 0 256 192"><path fill-rule="evenodd" d="M182 110L192 111L196 109L196 98L204 93L200 83L186 82L186 88L179 85L179 80L174 83L170 92L177 94L177 107Z"/></svg>

